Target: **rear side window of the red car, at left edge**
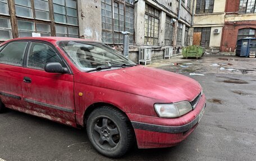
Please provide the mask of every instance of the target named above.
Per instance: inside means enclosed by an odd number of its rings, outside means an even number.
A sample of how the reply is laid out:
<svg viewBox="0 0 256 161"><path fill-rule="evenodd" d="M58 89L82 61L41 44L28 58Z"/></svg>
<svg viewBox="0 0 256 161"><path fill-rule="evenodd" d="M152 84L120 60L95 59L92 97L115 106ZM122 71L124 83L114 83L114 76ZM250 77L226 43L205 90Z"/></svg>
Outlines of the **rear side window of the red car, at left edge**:
<svg viewBox="0 0 256 161"><path fill-rule="evenodd" d="M0 52L0 63L22 66L23 56L28 42L7 44Z"/></svg>

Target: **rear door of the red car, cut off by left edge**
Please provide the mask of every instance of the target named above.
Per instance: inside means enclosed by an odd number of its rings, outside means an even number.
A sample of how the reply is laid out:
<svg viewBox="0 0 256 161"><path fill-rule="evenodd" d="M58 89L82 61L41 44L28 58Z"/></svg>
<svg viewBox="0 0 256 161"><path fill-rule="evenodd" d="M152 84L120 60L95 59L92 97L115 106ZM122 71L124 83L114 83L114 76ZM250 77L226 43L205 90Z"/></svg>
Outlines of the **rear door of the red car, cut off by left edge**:
<svg viewBox="0 0 256 161"><path fill-rule="evenodd" d="M22 67L28 41L15 41L0 48L0 99L8 108L22 107Z"/></svg>

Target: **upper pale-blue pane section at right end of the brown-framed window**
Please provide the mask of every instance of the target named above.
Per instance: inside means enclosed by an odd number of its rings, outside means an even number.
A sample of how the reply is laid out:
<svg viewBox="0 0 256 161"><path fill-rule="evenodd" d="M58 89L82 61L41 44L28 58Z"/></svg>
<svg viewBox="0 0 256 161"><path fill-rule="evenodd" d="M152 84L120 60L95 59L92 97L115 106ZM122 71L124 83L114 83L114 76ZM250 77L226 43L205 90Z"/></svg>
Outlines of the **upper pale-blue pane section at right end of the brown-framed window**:
<svg viewBox="0 0 256 161"><path fill-rule="evenodd" d="M53 0L53 11L55 22L77 25L76 1Z"/></svg>

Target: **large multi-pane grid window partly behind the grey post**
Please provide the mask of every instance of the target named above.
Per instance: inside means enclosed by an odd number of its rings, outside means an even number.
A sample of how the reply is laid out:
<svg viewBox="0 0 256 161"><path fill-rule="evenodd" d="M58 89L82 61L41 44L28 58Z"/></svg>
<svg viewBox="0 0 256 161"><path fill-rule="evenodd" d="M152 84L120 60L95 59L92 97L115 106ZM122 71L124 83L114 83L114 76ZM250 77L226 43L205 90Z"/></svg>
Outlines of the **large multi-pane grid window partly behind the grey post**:
<svg viewBox="0 0 256 161"><path fill-rule="evenodd" d="M134 6L133 1L117 2L101 0L102 42L110 44L124 43L122 31L129 31L129 43L134 43Z"/></svg>

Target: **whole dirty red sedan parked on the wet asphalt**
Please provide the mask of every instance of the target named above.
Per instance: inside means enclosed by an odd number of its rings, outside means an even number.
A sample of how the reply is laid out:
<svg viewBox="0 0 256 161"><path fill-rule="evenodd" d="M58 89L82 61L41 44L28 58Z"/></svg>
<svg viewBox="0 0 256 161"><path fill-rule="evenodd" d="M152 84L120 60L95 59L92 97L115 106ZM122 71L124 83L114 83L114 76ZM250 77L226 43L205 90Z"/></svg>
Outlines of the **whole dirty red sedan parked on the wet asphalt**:
<svg viewBox="0 0 256 161"><path fill-rule="evenodd" d="M19 38L0 46L0 112L5 108L86 127L94 148L121 157L174 146L203 116L199 83L136 65L98 42Z"/></svg>

